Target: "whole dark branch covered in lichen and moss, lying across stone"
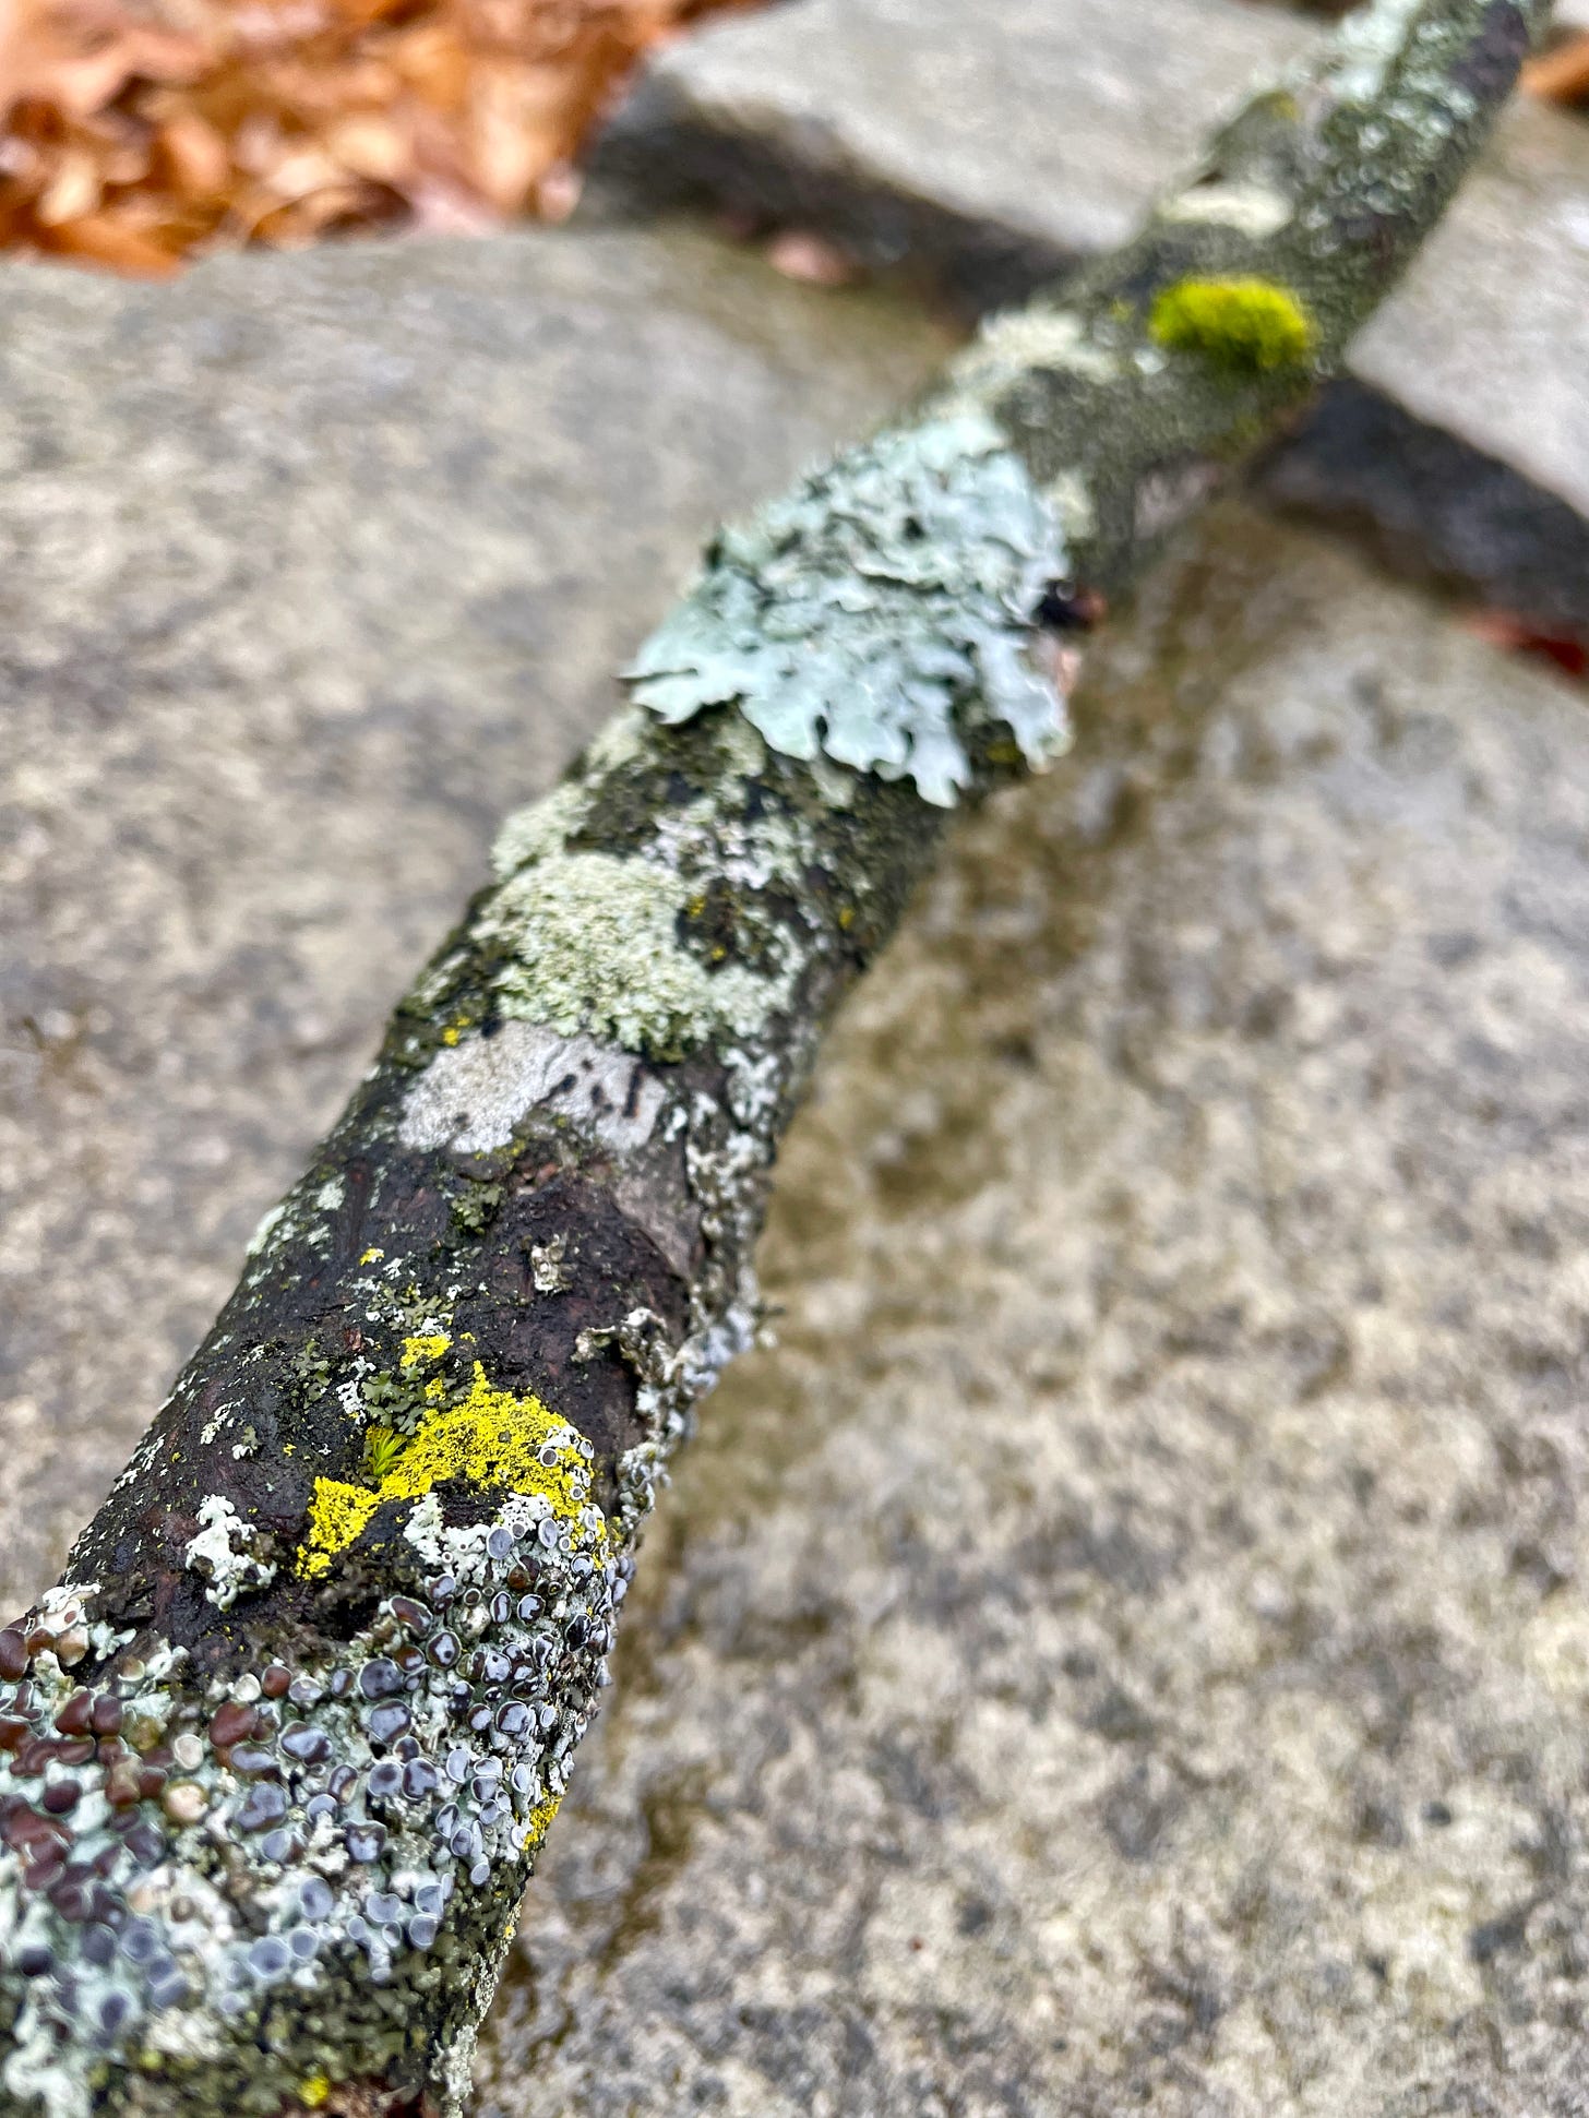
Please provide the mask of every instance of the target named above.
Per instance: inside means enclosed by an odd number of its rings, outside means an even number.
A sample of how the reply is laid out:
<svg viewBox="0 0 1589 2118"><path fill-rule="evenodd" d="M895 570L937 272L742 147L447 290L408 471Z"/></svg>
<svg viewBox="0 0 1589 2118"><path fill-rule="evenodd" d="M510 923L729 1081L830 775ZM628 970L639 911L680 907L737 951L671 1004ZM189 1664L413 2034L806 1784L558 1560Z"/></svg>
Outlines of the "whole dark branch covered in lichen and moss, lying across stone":
<svg viewBox="0 0 1589 2118"><path fill-rule="evenodd" d="M1542 4L1381 0L725 532L0 1631L0 2112L451 2112L824 1023L1078 635L1434 220ZM1061 121L1061 114L1057 114Z"/></svg>

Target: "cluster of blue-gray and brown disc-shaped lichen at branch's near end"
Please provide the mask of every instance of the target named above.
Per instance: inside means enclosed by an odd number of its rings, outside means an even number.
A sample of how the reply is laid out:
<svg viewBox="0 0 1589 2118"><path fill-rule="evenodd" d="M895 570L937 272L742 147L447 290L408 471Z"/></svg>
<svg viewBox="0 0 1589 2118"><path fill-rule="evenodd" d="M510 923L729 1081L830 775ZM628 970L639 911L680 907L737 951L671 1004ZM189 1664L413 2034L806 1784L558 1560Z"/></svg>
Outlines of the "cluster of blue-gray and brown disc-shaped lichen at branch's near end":
<svg viewBox="0 0 1589 2118"><path fill-rule="evenodd" d="M119 1656L91 1584L0 1633L2 2110L87 2118L112 2069L119 2110L169 2110L254 2042L214 2107L314 2107L407 2048L419 1995L494 1978L633 1563L600 1510L519 1493L475 1523L428 1495L405 1544L413 1593L352 1641L208 1692L182 1650Z"/></svg>

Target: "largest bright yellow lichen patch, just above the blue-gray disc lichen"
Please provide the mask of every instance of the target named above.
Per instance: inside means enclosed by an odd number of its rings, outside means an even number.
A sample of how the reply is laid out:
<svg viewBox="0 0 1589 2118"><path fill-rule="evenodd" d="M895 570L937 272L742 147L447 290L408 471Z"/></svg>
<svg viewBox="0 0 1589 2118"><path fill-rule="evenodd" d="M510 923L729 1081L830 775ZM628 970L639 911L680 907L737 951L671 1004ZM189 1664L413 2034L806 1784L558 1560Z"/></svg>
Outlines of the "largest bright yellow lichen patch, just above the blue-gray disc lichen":
<svg viewBox="0 0 1589 2118"><path fill-rule="evenodd" d="M583 1523L591 1510L591 1472L574 1428L540 1398L494 1389L479 1362L464 1402L428 1411L417 1434L388 1461L373 1485L316 1478L309 1536L297 1559L305 1580L326 1574L388 1500L422 1500L449 1478L540 1493L566 1523Z"/></svg>

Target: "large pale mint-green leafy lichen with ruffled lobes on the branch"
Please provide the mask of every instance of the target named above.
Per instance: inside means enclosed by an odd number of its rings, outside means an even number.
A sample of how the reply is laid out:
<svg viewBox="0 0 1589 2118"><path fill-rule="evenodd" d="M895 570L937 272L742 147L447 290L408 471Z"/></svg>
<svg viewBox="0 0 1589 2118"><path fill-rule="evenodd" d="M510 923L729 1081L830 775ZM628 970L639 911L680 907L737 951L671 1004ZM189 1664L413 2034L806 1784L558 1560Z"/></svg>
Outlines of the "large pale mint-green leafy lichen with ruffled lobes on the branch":
<svg viewBox="0 0 1589 2118"><path fill-rule="evenodd" d="M949 409L725 530L625 676L661 720L737 703L784 756L909 775L949 807L968 724L1002 724L1032 767L1066 748L1064 697L1025 654L1064 574L1053 504L981 411Z"/></svg>

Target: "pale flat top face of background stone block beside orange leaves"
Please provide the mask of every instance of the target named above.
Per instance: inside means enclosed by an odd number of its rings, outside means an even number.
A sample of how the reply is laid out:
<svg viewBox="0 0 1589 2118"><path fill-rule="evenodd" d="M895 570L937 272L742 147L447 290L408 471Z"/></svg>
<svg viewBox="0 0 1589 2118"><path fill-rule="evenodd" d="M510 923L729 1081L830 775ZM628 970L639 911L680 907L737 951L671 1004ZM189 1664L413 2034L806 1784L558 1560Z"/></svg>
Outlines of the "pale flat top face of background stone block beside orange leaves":
<svg viewBox="0 0 1589 2118"><path fill-rule="evenodd" d="M1083 256L1316 34L1239 0L788 0L706 21L650 78L790 161Z"/></svg>

